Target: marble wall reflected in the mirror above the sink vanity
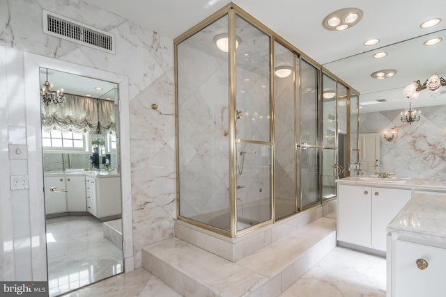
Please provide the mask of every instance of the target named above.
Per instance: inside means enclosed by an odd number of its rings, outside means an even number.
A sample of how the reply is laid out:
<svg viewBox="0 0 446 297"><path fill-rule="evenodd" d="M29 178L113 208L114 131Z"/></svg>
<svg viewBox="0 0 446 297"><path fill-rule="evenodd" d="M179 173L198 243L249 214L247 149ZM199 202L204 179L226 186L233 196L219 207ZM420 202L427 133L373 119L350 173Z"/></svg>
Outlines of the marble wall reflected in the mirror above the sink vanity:
<svg viewBox="0 0 446 297"><path fill-rule="evenodd" d="M418 110L418 109L417 109ZM380 170L401 177L445 177L446 106L420 108L420 122L401 122L400 110L362 113L360 133L380 134ZM383 134L397 130L393 141Z"/></svg>

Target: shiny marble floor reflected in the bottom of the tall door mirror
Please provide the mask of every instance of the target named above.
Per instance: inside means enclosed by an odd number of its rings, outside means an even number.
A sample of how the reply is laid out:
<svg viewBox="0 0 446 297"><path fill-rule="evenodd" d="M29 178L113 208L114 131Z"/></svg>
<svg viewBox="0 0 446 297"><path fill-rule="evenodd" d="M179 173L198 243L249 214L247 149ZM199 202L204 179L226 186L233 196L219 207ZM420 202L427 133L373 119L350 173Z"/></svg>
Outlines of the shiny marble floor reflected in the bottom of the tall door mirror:
<svg viewBox="0 0 446 297"><path fill-rule="evenodd" d="M123 252L93 216L47 219L49 296L123 272Z"/></svg>

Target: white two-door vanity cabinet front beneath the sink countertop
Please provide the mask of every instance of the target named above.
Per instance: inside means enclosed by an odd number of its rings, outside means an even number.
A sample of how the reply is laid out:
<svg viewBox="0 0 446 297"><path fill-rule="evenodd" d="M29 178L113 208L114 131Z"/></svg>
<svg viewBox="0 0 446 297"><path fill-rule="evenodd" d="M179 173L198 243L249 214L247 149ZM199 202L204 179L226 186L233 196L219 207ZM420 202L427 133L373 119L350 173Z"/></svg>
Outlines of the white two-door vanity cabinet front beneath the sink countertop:
<svg viewBox="0 0 446 297"><path fill-rule="evenodd" d="M398 188L339 185L337 240L385 251L386 227L411 193Z"/></svg>

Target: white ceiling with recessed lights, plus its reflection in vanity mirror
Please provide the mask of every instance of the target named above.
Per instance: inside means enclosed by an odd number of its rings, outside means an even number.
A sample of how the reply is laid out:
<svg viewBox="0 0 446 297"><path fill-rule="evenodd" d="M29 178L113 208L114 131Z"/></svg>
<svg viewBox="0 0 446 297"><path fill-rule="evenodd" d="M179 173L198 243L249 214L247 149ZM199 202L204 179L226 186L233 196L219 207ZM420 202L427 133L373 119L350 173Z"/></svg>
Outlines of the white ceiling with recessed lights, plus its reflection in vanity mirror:
<svg viewBox="0 0 446 297"><path fill-rule="evenodd" d="M195 24L215 13L227 0L84 0L93 6L115 13L174 39ZM401 90L411 81L424 81L430 74L446 76L446 38L431 48L420 45L429 33L437 35L446 29L446 1L367 1L367 0L234 0L247 13L291 42L315 61L358 90L361 101L387 99L407 104ZM322 21L341 8L360 8L361 22L346 31L328 31ZM427 19L443 19L431 29L420 24ZM442 33L444 35L444 33ZM379 38L377 45L367 47L365 40ZM408 40L408 41L406 41ZM389 54L380 60L371 58L376 49L387 47ZM427 52L426 52L427 51ZM376 80L370 74L392 68L395 77ZM392 90L392 91L390 91ZM427 91L424 91L427 92ZM429 97L429 96L427 96ZM423 98L420 97L420 104ZM414 104L415 105L415 104ZM364 106L362 112L398 109L397 103Z"/></svg>

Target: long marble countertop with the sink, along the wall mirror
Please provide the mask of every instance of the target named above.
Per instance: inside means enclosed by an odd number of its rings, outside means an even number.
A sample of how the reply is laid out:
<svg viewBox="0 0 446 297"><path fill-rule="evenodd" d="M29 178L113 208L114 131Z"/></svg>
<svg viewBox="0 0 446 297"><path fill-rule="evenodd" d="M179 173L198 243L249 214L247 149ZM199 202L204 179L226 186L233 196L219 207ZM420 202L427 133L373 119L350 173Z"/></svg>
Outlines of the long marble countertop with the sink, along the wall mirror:
<svg viewBox="0 0 446 297"><path fill-rule="evenodd" d="M385 188L410 188L446 192L446 179L412 179L405 177L345 177L336 179L337 184L380 186Z"/></svg>

